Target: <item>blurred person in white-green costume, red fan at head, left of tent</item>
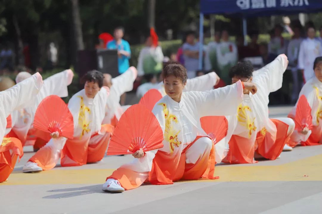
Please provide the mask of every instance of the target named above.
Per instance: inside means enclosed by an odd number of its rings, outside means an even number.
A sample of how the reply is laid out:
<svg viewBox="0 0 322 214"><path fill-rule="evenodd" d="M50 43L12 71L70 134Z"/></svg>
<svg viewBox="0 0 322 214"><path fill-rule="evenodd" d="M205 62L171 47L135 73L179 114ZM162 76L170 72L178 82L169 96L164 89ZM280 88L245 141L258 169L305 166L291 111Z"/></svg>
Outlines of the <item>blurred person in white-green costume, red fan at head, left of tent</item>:
<svg viewBox="0 0 322 214"><path fill-rule="evenodd" d="M148 36L145 47L141 49L137 62L138 76L156 74L162 70L163 53L160 46L154 46L151 36Z"/></svg>

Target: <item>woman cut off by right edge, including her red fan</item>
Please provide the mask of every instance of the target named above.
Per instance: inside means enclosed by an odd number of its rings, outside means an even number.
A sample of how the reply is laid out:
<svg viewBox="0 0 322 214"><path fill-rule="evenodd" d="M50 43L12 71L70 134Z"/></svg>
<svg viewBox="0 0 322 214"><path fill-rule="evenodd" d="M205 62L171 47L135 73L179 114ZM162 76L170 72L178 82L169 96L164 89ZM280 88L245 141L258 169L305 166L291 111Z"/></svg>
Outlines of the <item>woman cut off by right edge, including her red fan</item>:
<svg viewBox="0 0 322 214"><path fill-rule="evenodd" d="M303 86L296 106L289 113L295 120L295 131L289 145L294 147L321 144L322 135L322 57L313 65L315 76Z"/></svg>

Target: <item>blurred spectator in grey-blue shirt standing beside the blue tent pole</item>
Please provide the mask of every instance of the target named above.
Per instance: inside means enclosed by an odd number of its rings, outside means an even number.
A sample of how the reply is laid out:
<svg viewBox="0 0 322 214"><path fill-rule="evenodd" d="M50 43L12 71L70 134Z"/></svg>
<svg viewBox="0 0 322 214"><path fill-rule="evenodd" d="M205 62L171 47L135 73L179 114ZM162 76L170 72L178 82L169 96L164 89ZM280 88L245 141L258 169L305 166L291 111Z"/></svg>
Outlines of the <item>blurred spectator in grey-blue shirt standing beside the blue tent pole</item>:
<svg viewBox="0 0 322 214"><path fill-rule="evenodd" d="M195 33L188 32L186 35L186 42L182 47L185 68L187 69L188 78L194 78L196 70L199 67L199 47L200 43L195 41Z"/></svg>

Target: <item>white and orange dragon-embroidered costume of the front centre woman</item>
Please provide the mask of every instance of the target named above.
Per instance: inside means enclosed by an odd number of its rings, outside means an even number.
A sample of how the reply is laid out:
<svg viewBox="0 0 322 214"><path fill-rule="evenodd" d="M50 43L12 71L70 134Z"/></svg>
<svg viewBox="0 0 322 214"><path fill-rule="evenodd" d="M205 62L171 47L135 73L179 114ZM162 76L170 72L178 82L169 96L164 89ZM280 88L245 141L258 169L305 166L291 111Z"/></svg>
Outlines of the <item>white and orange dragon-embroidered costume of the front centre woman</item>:
<svg viewBox="0 0 322 214"><path fill-rule="evenodd" d="M130 190L146 180L152 184L172 184L201 177L216 179L213 142L201 128L200 117L236 114L242 91L238 81L210 91L183 92L180 103L163 97L152 111L164 133L163 148L122 165L107 180L118 180L125 190Z"/></svg>

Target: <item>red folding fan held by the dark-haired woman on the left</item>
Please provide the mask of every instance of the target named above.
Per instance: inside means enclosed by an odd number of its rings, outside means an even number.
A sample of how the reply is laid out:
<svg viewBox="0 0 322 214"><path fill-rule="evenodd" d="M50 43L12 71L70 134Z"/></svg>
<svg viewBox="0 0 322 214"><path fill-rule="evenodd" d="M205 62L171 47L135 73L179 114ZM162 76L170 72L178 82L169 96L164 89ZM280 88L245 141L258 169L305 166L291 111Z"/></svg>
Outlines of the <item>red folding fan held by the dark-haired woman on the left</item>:
<svg viewBox="0 0 322 214"><path fill-rule="evenodd" d="M66 103L56 95L44 98L39 104L33 127L47 133L58 132L59 136L69 139L74 135L73 116Z"/></svg>

